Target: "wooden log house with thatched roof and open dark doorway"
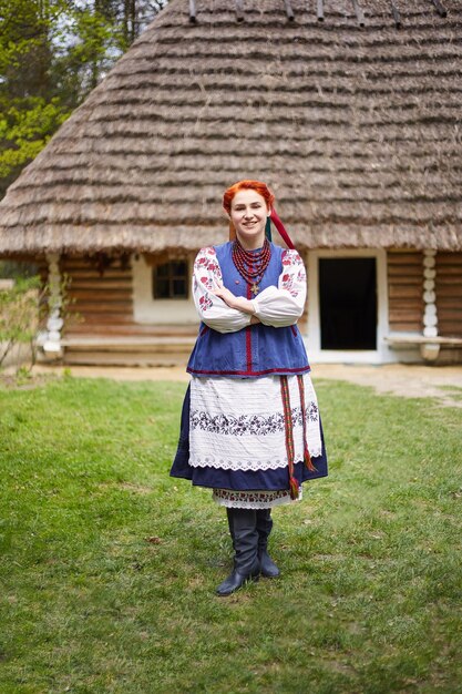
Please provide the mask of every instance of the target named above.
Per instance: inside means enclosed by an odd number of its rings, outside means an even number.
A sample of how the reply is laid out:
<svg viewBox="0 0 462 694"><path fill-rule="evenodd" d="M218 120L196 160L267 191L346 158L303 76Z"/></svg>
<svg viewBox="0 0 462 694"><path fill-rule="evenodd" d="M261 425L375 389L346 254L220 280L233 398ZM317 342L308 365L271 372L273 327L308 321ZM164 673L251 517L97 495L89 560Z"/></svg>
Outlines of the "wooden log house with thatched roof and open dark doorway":
<svg viewBox="0 0 462 694"><path fill-rule="evenodd" d="M44 353L184 361L194 255L259 178L314 360L462 360L461 38L459 0L171 0L0 204L54 287Z"/></svg>

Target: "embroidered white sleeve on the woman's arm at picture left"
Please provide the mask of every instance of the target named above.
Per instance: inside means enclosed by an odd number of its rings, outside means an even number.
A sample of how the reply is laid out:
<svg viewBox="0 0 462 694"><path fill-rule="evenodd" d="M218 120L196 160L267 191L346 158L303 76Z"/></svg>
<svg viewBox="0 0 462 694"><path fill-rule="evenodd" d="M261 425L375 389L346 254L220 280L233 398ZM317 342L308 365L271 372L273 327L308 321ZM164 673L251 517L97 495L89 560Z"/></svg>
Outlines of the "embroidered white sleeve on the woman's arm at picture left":
<svg viewBox="0 0 462 694"><path fill-rule="evenodd" d="M212 294L223 283L215 248L202 248L194 262L193 297L199 318L218 333L236 333L250 323L250 315L230 308L222 298Z"/></svg>

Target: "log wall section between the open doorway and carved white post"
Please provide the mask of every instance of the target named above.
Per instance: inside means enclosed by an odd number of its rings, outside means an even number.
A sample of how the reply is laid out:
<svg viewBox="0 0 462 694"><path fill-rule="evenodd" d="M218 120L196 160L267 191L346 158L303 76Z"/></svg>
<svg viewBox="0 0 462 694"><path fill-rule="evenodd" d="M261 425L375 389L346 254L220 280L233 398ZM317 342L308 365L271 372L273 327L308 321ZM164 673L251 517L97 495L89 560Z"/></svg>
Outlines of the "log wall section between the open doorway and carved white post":
<svg viewBox="0 0 462 694"><path fill-rule="evenodd" d="M389 251L387 267L390 330L422 333L423 254Z"/></svg>

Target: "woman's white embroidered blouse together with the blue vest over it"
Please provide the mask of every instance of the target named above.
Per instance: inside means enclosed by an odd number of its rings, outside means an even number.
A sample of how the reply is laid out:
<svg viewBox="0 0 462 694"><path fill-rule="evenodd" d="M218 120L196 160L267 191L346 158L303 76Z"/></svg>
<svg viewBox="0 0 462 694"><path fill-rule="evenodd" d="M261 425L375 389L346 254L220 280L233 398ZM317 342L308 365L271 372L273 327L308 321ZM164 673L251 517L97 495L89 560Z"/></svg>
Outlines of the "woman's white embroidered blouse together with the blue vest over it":
<svg viewBox="0 0 462 694"><path fill-rule="evenodd" d="M251 300L250 314L230 308L213 289L223 284ZM271 257L253 298L233 262L233 244L203 248L196 257L193 296L202 320L187 370L198 377L260 378L309 371L296 323L304 312L306 273L296 251L271 244Z"/></svg>

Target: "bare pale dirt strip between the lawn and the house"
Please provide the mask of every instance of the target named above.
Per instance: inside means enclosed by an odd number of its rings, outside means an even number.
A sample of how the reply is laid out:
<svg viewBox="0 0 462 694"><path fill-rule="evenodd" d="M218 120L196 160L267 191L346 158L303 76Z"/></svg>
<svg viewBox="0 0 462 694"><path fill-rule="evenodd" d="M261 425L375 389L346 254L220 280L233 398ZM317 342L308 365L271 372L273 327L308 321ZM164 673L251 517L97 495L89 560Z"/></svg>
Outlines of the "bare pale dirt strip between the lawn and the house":
<svg viewBox="0 0 462 694"><path fill-rule="evenodd" d="M62 375L63 367L35 366L34 376ZM112 378L114 380L173 380L188 382L184 367L66 367L74 378ZM312 379L347 380L370 386L377 392L390 392L407 398L435 398L439 405L462 407L462 366L420 366L384 364L380 366L318 364L312 367Z"/></svg>

